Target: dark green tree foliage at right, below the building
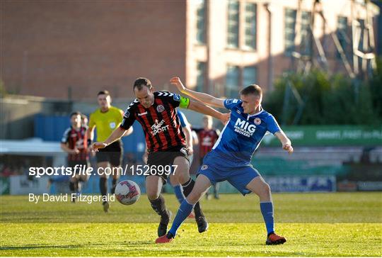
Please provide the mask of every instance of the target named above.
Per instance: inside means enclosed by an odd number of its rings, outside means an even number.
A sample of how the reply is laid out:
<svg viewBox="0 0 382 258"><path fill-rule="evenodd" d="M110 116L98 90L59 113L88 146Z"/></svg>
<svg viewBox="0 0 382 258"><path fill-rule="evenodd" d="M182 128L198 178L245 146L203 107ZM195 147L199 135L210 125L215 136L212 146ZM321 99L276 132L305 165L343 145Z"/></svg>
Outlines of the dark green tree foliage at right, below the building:
<svg viewBox="0 0 382 258"><path fill-rule="evenodd" d="M366 82L320 70L286 74L277 79L263 106L284 125L381 125L381 60L377 67Z"/></svg>

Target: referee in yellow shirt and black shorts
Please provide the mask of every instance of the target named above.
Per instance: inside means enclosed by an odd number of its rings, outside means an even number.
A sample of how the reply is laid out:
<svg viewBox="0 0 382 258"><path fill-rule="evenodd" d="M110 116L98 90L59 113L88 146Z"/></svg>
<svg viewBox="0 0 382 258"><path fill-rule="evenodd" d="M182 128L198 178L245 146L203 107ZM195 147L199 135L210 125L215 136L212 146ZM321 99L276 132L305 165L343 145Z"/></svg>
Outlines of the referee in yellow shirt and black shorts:
<svg viewBox="0 0 382 258"><path fill-rule="evenodd" d="M97 142L103 142L111 135L112 131L120 127L124 112L120 108L111 106L111 97L109 91L100 91L97 94L98 108L91 113L88 128L88 139L93 140L94 129L97 130ZM124 135L129 135L132 130L127 131ZM110 167L112 169L112 189L111 194L114 194L115 186L120 175L117 169L122 163L122 142L116 140L112 144L96 152L97 165L100 172L100 194L103 196L103 211L108 212L109 203L105 201L108 194L108 175L104 173L105 168Z"/></svg>

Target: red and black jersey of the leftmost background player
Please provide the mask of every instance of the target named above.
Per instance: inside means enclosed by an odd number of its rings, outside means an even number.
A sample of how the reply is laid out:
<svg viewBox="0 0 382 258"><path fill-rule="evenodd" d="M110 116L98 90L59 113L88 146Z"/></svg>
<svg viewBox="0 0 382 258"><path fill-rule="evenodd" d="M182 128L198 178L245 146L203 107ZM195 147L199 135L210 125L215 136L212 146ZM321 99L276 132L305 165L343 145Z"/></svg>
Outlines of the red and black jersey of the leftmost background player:
<svg viewBox="0 0 382 258"><path fill-rule="evenodd" d="M76 147L79 149L79 154L68 155L70 161L83 161L88 159L88 135L86 135L86 127L81 127L78 130L69 127L65 130L62 143L68 144L69 149Z"/></svg>

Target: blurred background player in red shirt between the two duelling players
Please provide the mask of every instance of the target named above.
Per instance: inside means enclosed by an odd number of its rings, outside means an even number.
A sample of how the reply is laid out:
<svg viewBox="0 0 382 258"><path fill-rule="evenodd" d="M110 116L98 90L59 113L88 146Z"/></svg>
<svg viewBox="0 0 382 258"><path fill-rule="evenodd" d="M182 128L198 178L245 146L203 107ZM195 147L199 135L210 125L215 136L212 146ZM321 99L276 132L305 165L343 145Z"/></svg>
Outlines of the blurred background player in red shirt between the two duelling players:
<svg viewBox="0 0 382 258"><path fill-rule="evenodd" d="M199 162L202 166L204 156L212 150L216 140L219 138L220 131L212 127L212 117L203 116L203 128L192 128L197 133L197 138L199 139ZM213 185L214 188L214 198L219 199L219 185L216 183ZM207 191L206 198L209 200L209 193Z"/></svg>

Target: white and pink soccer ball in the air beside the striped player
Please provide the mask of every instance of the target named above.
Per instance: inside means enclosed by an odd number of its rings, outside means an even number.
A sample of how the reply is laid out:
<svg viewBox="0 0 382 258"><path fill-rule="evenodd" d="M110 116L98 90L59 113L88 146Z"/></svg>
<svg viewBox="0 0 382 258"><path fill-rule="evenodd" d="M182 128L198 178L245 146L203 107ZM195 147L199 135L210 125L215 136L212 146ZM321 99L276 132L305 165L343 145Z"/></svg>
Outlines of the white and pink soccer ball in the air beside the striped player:
<svg viewBox="0 0 382 258"><path fill-rule="evenodd" d="M141 189L136 182L131 180L120 181L115 186L115 198L124 205L132 205L141 196Z"/></svg>

